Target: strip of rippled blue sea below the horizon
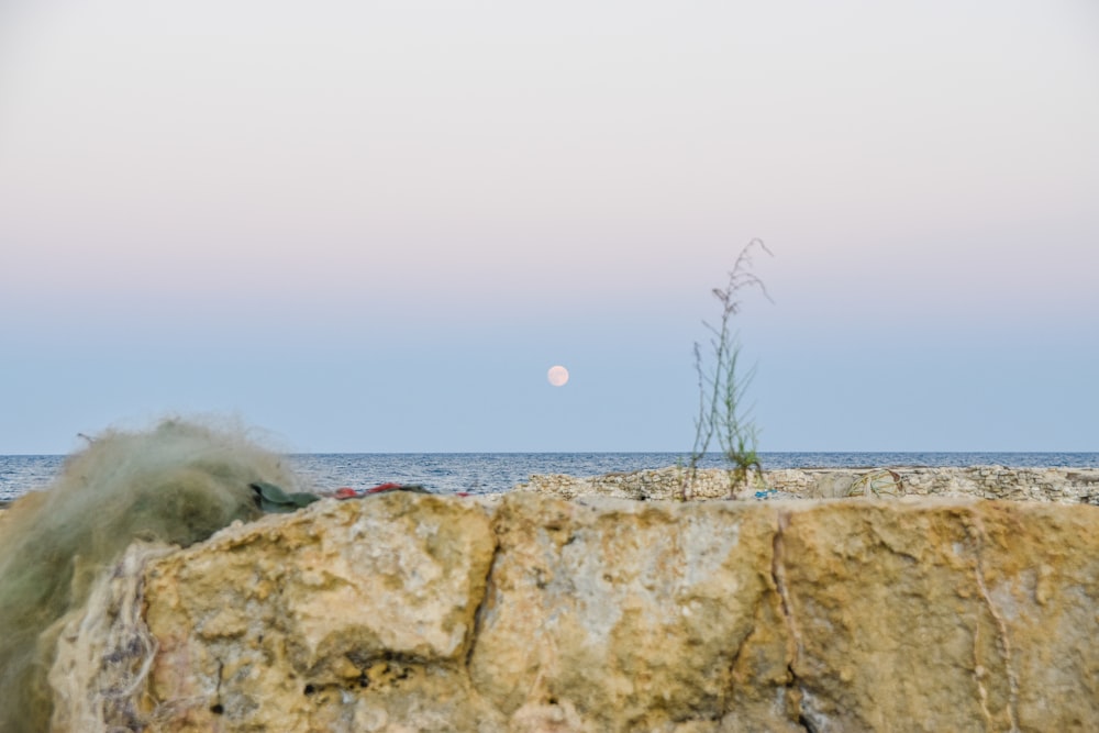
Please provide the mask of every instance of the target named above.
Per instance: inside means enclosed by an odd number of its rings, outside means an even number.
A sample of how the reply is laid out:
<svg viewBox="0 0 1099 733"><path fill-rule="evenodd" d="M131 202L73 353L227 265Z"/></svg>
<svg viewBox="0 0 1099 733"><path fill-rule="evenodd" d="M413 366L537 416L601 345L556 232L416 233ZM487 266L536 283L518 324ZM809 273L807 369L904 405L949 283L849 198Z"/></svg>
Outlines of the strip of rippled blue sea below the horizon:
<svg viewBox="0 0 1099 733"><path fill-rule="evenodd" d="M1099 453L761 453L765 469L906 466L1099 468ZM304 487L363 490L386 482L419 484L435 493L507 491L532 474L598 476L685 464L680 453L331 453L288 456ZM65 456L0 456L0 502L48 488ZM720 454L700 466L720 468Z"/></svg>

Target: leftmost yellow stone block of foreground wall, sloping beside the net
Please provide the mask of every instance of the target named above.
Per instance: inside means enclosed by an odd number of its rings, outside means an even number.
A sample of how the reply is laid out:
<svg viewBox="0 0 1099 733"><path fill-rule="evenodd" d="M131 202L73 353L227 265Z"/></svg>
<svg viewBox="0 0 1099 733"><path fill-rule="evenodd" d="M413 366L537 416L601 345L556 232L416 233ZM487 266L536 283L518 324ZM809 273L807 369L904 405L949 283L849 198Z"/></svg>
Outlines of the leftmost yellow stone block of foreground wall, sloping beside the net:
<svg viewBox="0 0 1099 733"><path fill-rule="evenodd" d="M465 657L495 545L477 504L397 492L173 555L146 587L157 730L476 730L493 711Z"/></svg>

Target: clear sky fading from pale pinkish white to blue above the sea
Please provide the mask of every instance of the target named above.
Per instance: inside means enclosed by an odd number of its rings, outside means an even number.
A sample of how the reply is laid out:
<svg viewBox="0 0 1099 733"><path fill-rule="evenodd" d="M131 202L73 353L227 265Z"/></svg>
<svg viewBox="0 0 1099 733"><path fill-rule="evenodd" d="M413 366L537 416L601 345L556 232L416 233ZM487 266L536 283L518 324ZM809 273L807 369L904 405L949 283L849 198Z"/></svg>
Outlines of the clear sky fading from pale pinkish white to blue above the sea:
<svg viewBox="0 0 1099 733"><path fill-rule="evenodd" d="M761 449L1099 451L1099 5L0 7L0 454L688 452L754 237Z"/></svg>

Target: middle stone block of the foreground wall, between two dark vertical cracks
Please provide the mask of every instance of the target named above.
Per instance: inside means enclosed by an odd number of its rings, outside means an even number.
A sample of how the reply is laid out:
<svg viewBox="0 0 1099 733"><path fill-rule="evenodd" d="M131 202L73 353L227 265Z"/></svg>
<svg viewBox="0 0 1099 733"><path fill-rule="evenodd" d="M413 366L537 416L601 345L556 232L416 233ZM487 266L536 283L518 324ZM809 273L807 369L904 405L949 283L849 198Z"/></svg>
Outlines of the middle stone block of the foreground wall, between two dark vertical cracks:
<svg viewBox="0 0 1099 733"><path fill-rule="evenodd" d="M775 529L759 504L508 497L474 685L518 730L675 730L746 707L782 730Z"/></svg>

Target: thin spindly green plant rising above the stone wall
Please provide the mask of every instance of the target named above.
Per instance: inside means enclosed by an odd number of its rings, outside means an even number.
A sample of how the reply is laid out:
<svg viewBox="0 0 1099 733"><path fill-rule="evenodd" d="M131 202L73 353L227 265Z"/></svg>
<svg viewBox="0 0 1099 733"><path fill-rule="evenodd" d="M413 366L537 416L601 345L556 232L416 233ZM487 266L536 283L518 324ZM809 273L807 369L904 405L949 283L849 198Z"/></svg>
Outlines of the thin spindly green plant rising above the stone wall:
<svg viewBox="0 0 1099 733"><path fill-rule="evenodd" d="M771 254L762 240L748 242L723 288L714 288L713 296L721 302L718 325L703 321L710 332L709 349L695 342L695 374L698 377L698 415L695 418L695 443L687 458L687 468L679 487L679 498L686 499L698 477L698 465L714 440L722 457L729 463L729 495L747 484L755 471L763 473L756 449L759 431L752 421L751 411L744 407L744 397L755 369L742 373L739 366L741 344L733 330L733 318L741 311L741 298L746 290L758 288L767 300L767 288L752 271L755 249Z"/></svg>

